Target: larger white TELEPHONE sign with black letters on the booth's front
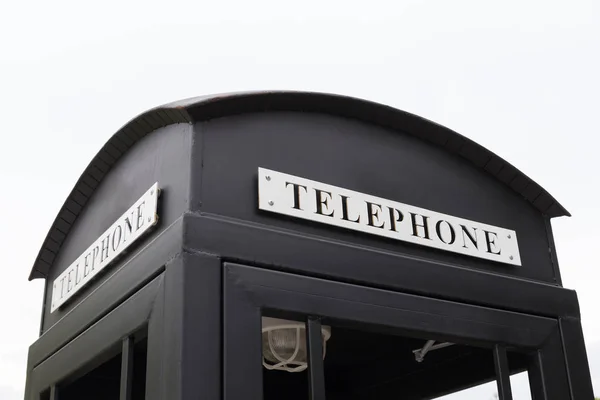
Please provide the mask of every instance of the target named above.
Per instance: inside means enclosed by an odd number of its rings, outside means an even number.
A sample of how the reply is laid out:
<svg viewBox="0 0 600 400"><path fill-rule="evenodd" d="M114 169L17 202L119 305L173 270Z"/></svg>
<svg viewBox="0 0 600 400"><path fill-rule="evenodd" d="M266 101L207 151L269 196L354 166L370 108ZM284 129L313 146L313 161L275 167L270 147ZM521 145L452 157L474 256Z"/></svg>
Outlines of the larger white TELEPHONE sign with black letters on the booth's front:
<svg viewBox="0 0 600 400"><path fill-rule="evenodd" d="M259 209L421 246L521 265L517 234L264 168Z"/></svg>

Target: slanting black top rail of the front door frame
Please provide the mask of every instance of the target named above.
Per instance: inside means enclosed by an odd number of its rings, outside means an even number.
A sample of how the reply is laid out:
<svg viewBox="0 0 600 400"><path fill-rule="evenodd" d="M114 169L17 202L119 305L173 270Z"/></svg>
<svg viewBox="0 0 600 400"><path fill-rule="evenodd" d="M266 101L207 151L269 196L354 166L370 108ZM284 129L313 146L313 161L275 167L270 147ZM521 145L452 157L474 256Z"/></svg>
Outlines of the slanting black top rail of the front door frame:
<svg viewBox="0 0 600 400"><path fill-rule="evenodd" d="M366 288L289 273L225 264L257 308L320 315L383 328L431 334L436 340L493 347L502 342L538 348L557 329L557 321L509 311ZM364 326L363 326L364 329ZM434 337L435 336L435 337Z"/></svg>

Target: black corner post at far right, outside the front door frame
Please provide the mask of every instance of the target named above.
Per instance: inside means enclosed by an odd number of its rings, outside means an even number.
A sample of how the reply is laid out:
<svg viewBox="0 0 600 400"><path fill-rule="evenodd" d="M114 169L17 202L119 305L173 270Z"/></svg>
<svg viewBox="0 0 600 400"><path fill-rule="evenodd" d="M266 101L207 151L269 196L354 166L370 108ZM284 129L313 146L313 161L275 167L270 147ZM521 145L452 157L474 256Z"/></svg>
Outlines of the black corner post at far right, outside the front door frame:
<svg viewBox="0 0 600 400"><path fill-rule="evenodd" d="M592 378L585 350L581 322L575 318L559 319L563 351L572 400L593 399Z"/></svg>

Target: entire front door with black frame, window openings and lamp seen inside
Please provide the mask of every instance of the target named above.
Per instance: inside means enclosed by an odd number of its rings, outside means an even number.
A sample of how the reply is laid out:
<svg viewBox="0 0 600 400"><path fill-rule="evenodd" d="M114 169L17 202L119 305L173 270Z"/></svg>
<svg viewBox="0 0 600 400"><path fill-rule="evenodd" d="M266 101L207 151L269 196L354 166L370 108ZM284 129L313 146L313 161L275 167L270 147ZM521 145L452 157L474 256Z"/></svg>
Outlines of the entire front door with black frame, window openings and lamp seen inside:
<svg viewBox="0 0 600 400"><path fill-rule="evenodd" d="M571 398L555 319L237 264L224 274L225 400Z"/></svg>

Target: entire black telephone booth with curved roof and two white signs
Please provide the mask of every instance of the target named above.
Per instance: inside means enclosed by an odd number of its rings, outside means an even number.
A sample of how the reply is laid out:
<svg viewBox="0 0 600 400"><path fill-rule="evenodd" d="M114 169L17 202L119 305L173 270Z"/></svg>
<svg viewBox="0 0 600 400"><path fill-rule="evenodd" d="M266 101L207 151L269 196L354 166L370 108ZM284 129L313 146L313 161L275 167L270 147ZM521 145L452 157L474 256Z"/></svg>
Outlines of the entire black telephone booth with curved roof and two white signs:
<svg viewBox="0 0 600 400"><path fill-rule="evenodd" d="M465 137L302 92L127 123L76 183L26 399L433 399L486 382L592 400L568 212Z"/></svg>

